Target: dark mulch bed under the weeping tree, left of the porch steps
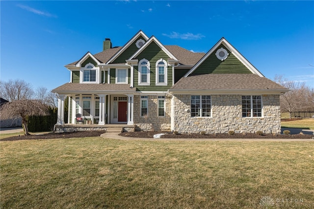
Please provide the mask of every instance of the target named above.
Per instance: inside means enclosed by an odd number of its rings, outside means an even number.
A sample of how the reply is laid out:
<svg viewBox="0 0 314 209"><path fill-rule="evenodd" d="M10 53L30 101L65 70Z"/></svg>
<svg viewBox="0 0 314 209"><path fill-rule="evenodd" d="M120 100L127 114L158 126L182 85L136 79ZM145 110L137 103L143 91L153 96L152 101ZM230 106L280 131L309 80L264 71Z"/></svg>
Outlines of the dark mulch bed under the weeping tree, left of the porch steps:
<svg viewBox="0 0 314 209"><path fill-rule="evenodd" d="M69 138L85 138L99 137L105 131L81 131L81 132L64 132L64 133L48 133L40 135L20 135L16 137L8 137L1 141L27 140L27 139L69 139Z"/></svg>

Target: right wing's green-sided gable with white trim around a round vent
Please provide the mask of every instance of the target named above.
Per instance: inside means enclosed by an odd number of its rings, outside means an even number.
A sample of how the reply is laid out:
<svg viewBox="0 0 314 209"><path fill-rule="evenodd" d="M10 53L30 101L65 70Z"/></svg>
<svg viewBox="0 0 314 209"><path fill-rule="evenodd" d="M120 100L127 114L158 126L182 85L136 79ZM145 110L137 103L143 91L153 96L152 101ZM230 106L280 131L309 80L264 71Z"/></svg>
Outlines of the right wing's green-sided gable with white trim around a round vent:
<svg viewBox="0 0 314 209"><path fill-rule="evenodd" d="M215 52L225 48L229 53L226 60L218 60ZM199 69L199 70L198 70ZM206 70L204 70L206 69ZM202 59L189 70L184 77L208 73L253 73L264 77L248 60L246 60L225 38L221 38Z"/></svg>

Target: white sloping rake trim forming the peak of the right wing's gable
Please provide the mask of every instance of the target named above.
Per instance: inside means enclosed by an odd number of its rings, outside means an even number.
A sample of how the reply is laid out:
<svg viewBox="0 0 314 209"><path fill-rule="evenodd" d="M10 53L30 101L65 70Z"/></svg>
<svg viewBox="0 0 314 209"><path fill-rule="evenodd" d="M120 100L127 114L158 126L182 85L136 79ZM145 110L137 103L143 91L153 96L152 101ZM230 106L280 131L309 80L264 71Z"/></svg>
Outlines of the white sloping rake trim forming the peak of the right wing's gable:
<svg viewBox="0 0 314 209"><path fill-rule="evenodd" d="M232 54L248 69L250 70L253 74L257 74L261 77L264 77L263 74L257 70L247 59L245 59L242 54L240 54L234 46L232 46L224 37L222 37L205 55L204 57L199 60L196 65L189 70L184 77L187 77L188 75L190 75L194 70L196 70L208 57L210 54L212 54L214 51L216 51L216 49L218 48L218 46L220 45L224 45L226 48L228 48L228 50L230 50L232 52Z"/></svg>

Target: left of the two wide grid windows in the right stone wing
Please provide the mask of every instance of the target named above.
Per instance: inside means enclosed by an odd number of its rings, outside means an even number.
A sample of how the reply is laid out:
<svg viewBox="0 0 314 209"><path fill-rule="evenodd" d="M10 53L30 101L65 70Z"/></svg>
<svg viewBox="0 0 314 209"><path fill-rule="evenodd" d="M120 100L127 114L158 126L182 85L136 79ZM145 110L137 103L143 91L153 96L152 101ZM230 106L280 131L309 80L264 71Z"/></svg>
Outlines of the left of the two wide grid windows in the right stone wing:
<svg viewBox="0 0 314 209"><path fill-rule="evenodd" d="M192 117L211 116L210 95L191 95L191 116Z"/></svg>

